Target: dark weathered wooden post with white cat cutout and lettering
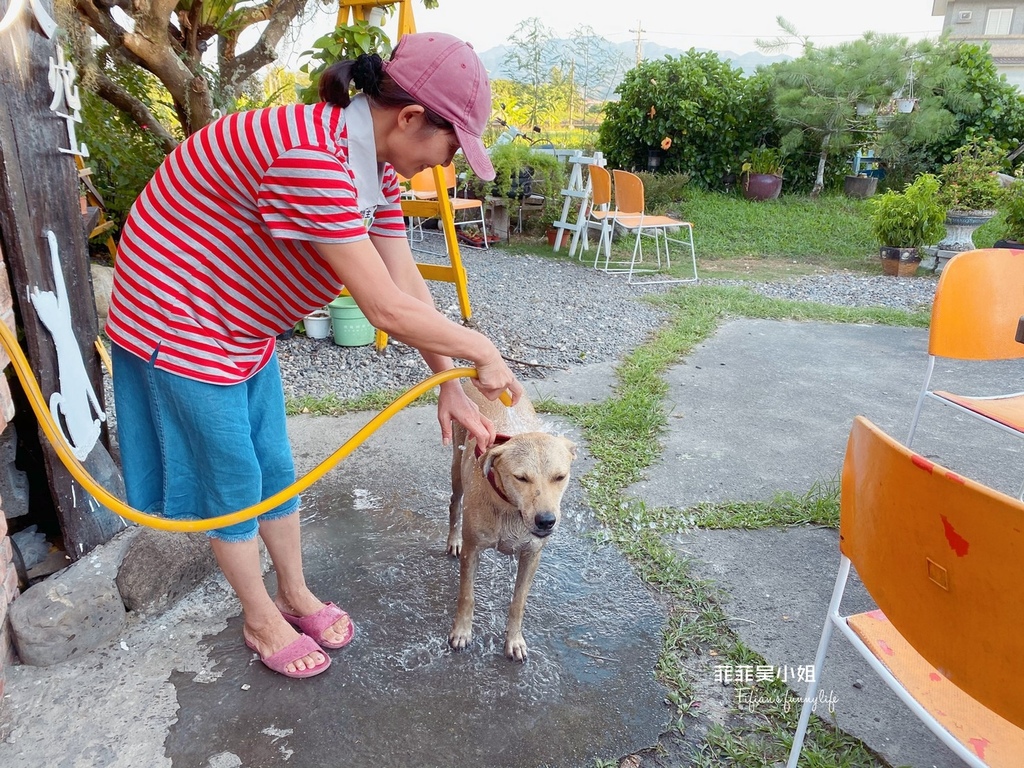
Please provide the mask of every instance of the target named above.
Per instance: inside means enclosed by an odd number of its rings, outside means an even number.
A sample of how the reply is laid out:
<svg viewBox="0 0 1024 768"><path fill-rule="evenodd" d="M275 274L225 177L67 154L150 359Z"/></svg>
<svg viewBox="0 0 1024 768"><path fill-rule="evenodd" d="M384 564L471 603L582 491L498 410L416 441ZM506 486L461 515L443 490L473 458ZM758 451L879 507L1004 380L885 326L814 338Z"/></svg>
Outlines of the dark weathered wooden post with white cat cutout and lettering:
<svg viewBox="0 0 1024 768"><path fill-rule="evenodd" d="M92 427L102 432L101 419L96 415L94 421L84 422L88 429L76 429L72 422L81 426L83 421L70 412L72 400L86 397L86 410L97 410L98 404L101 413L103 388L93 349L96 307L75 164L75 156L85 154L75 134L75 123L81 120L75 103L77 86L69 77L73 72L61 70L62 53L50 36L54 30L47 14L52 15L49 0L26 3L0 32L0 246L10 269L26 354L40 388L63 419L61 428L71 434L72 444L78 435L77 449L84 455L86 469L112 493L123 496L120 472L102 440L83 438ZM52 321L57 310L67 333L41 321L44 314ZM67 352L75 347L80 357L72 359ZM73 373L85 385L74 393L68 387ZM62 385L68 391L61 390ZM98 397L98 403L92 397ZM125 522L86 493L41 431L39 435L65 549L78 559L125 527Z"/></svg>

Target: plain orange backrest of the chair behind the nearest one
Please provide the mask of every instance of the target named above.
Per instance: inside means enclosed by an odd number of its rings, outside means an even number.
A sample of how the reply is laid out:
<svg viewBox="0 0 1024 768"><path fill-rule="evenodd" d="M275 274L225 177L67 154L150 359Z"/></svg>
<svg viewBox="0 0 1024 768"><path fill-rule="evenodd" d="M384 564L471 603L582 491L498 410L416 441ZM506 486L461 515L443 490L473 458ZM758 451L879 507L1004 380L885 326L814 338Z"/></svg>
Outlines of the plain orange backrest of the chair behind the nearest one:
<svg viewBox="0 0 1024 768"><path fill-rule="evenodd" d="M1015 341L1024 315L1024 253L987 248L946 262L935 289L928 351L941 357L1024 357Z"/></svg>

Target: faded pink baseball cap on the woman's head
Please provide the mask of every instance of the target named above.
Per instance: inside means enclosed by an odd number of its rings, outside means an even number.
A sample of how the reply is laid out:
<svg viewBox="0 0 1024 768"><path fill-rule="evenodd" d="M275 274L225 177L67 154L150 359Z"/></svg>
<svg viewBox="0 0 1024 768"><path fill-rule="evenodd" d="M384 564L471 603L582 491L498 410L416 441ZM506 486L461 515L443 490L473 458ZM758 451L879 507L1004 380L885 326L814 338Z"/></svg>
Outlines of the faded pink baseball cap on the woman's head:
<svg viewBox="0 0 1024 768"><path fill-rule="evenodd" d="M406 35L384 62L384 71L409 95L455 126L473 173L484 181L495 177L481 138L490 119L490 81L472 45L440 32Z"/></svg>

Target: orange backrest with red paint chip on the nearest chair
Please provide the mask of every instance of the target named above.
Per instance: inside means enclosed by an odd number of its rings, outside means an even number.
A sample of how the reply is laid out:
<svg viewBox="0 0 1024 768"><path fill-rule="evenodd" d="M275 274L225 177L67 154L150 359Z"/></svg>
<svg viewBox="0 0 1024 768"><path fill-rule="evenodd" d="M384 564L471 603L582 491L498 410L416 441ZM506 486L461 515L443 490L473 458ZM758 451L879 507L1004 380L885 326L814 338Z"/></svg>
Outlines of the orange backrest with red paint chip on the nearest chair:
<svg viewBox="0 0 1024 768"><path fill-rule="evenodd" d="M840 550L925 659L1024 727L1024 504L913 454L863 417L843 465Z"/></svg>

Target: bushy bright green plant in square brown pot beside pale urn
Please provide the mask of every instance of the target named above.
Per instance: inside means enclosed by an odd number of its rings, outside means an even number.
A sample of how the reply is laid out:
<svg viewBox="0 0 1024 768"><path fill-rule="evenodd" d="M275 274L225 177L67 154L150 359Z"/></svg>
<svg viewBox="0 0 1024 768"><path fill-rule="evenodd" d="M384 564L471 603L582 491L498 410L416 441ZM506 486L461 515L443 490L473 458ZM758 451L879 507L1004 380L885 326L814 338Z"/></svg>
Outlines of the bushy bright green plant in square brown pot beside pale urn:
<svg viewBox="0 0 1024 768"><path fill-rule="evenodd" d="M919 249L944 231L946 212L939 201L939 180L931 173L922 174L903 191L889 189L871 198L868 211L885 274L913 274L922 259Z"/></svg>

